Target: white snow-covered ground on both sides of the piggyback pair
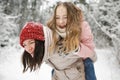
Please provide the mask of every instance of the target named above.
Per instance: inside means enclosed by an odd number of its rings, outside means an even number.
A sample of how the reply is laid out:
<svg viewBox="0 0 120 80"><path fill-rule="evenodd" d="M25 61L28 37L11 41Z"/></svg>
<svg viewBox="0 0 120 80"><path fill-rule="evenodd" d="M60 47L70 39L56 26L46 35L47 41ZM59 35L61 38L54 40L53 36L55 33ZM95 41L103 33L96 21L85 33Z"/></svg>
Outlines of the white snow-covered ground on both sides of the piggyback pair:
<svg viewBox="0 0 120 80"><path fill-rule="evenodd" d="M51 80L51 68L45 63L34 73L22 73L21 50L8 47L0 50L0 80ZM97 80L120 80L120 68L110 49L96 49L95 63Z"/></svg>

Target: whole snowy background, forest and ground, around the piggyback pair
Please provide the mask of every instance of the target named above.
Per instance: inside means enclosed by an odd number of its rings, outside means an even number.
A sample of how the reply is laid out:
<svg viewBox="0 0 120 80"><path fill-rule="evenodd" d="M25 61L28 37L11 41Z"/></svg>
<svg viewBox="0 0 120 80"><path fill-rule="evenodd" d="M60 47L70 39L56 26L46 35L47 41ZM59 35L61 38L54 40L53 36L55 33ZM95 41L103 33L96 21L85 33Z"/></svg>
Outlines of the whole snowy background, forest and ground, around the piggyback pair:
<svg viewBox="0 0 120 80"><path fill-rule="evenodd" d="M0 80L51 80L51 67L45 63L35 72L22 73L18 36L26 21L45 24L56 1L74 2L84 11L95 37L97 80L120 80L120 0L35 1L0 0Z"/></svg>

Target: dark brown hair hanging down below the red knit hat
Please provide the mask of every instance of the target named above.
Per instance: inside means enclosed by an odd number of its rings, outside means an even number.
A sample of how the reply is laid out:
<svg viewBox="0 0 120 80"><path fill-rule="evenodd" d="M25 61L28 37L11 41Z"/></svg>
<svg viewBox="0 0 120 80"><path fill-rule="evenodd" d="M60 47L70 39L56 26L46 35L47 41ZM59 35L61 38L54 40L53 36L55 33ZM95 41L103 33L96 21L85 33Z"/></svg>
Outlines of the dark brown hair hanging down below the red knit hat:
<svg viewBox="0 0 120 80"><path fill-rule="evenodd" d="M44 41L35 40L35 50L34 57L32 57L27 51L23 52L22 55L22 64L23 64L23 72L26 72L28 68L30 71L35 71L37 68L41 66L43 57L44 57Z"/></svg>

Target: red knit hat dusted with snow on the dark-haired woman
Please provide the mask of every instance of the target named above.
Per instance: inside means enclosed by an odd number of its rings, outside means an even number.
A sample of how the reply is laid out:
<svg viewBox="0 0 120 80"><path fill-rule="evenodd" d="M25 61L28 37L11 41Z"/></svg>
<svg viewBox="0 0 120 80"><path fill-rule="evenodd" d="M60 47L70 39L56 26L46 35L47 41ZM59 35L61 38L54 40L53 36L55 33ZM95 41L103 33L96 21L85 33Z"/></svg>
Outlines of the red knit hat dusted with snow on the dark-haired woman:
<svg viewBox="0 0 120 80"><path fill-rule="evenodd" d="M20 45L27 39L36 39L44 41L43 26L40 23L27 22L20 32Z"/></svg>

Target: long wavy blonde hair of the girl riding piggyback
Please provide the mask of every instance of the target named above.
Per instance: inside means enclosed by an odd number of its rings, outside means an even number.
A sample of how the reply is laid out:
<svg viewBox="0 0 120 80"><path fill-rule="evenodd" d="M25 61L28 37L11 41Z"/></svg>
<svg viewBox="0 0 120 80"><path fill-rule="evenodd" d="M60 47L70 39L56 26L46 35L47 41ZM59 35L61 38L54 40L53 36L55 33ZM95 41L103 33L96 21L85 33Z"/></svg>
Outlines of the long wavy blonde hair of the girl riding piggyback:
<svg viewBox="0 0 120 80"><path fill-rule="evenodd" d="M81 35L81 22L83 21L82 11L71 2L59 2L54 10L54 15L48 21L48 27L53 31L53 43L50 50L54 50L58 41L56 33L56 9L63 5L67 9L66 37L63 40L65 53L74 50L79 46ZM69 34L68 34L69 32Z"/></svg>

